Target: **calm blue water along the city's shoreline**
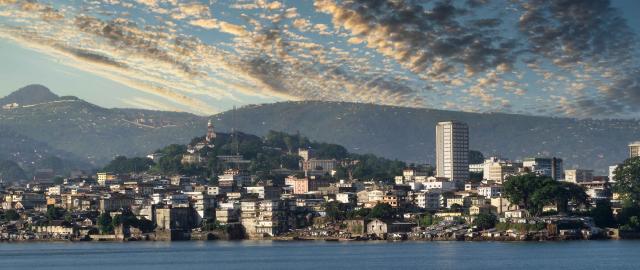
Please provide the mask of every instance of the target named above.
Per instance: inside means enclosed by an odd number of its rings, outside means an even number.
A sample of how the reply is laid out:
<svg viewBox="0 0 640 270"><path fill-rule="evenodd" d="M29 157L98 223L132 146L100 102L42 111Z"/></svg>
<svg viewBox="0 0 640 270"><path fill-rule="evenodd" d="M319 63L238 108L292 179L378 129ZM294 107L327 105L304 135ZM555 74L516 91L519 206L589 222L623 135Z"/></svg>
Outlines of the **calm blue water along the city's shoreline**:
<svg viewBox="0 0 640 270"><path fill-rule="evenodd" d="M640 241L0 243L0 269L639 269Z"/></svg>

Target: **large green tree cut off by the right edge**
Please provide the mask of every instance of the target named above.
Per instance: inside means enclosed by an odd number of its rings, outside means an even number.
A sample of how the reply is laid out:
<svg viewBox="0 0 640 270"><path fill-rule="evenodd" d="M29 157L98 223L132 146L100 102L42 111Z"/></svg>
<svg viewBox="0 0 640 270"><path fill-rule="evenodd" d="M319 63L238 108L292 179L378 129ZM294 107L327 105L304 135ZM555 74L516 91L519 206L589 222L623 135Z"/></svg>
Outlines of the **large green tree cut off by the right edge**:
<svg viewBox="0 0 640 270"><path fill-rule="evenodd" d="M613 172L613 190L623 200L640 204L640 157L629 158Z"/></svg>

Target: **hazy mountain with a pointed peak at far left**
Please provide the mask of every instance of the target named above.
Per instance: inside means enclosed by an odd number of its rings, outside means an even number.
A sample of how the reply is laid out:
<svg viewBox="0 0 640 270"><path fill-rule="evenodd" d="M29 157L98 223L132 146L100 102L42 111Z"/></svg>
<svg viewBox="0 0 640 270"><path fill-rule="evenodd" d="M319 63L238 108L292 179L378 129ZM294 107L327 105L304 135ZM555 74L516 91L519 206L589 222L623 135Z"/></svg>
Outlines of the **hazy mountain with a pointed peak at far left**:
<svg viewBox="0 0 640 270"><path fill-rule="evenodd" d="M106 109L76 97L47 92L48 89L29 86L3 98L3 102L23 103L0 109L0 127L34 144L42 143L66 153L56 156L93 167L102 167L117 155L146 155L170 143L186 143L206 129L204 117L188 113ZM37 97L27 98L34 93ZM0 156L7 154L0 151Z"/></svg>

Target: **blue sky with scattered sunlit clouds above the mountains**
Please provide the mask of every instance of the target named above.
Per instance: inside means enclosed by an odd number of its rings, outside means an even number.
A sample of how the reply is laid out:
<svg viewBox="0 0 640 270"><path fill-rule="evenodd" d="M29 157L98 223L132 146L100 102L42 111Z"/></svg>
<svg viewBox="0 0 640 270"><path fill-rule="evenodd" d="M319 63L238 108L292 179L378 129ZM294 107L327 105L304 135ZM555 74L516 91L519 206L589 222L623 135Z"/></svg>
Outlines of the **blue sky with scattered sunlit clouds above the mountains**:
<svg viewBox="0 0 640 270"><path fill-rule="evenodd" d="M640 118L635 0L0 0L0 95Z"/></svg>

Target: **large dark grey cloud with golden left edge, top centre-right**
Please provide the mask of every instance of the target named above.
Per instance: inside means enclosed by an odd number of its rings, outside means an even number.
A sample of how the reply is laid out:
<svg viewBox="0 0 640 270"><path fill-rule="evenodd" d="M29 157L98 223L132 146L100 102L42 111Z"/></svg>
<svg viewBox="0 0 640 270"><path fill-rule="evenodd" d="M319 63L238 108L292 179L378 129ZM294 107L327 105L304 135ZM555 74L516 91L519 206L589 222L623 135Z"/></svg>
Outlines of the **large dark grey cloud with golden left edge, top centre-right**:
<svg viewBox="0 0 640 270"><path fill-rule="evenodd" d="M429 79L475 74L515 59L514 40L483 30L497 23L463 24L459 21L469 12L449 1L436 2L430 10L408 1L317 0L315 7L367 46Z"/></svg>

